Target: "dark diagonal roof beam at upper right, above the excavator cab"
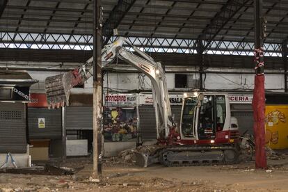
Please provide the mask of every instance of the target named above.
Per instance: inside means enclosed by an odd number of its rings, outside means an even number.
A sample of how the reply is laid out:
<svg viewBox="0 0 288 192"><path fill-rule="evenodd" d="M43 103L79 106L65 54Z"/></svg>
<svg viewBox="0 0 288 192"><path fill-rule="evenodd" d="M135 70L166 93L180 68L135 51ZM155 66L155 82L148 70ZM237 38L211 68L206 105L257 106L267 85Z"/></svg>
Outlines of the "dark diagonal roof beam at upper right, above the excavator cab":
<svg viewBox="0 0 288 192"><path fill-rule="evenodd" d="M246 5L250 0L228 0L227 3L221 8L221 10L211 19L210 24L198 37L200 42L198 51L203 52L216 35L223 29L223 27L230 21L232 17ZM202 45L202 40L206 40L206 45Z"/></svg>

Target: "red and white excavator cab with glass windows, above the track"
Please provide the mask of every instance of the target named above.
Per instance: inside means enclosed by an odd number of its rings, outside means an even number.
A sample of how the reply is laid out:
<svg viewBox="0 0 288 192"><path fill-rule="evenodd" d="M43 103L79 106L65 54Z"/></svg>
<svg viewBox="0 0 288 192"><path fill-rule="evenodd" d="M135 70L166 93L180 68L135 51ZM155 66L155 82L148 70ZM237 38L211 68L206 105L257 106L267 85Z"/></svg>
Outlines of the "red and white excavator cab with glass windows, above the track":
<svg viewBox="0 0 288 192"><path fill-rule="evenodd" d="M231 120L232 119L232 120ZM223 93L184 93L179 134L193 143L232 143L238 131L230 116L228 96Z"/></svg>

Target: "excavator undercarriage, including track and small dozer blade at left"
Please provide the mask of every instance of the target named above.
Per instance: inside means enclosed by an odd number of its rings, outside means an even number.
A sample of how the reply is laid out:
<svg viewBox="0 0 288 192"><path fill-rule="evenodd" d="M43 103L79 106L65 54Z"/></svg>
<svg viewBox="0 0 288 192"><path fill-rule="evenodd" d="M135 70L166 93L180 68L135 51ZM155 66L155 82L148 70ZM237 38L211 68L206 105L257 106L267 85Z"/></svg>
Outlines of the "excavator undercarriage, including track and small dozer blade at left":
<svg viewBox="0 0 288 192"><path fill-rule="evenodd" d="M234 146L172 145L145 154L136 152L136 164L141 167L153 163L163 166L209 166L239 163L239 149Z"/></svg>

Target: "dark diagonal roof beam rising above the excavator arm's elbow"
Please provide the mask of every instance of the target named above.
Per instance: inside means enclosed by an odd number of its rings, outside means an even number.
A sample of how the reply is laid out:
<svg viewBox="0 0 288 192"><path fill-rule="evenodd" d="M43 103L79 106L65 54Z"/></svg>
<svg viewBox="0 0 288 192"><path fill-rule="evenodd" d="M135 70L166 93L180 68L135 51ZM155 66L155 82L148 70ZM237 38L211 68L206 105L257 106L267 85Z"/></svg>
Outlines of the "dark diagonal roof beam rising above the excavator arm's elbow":
<svg viewBox="0 0 288 192"><path fill-rule="evenodd" d="M102 35L106 36L104 45L109 42L113 35L113 29L117 29L122 19L125 17L127 12L136 0L119 0L118 4L111 11L109 18L106 19L102 28Z"/></svg>

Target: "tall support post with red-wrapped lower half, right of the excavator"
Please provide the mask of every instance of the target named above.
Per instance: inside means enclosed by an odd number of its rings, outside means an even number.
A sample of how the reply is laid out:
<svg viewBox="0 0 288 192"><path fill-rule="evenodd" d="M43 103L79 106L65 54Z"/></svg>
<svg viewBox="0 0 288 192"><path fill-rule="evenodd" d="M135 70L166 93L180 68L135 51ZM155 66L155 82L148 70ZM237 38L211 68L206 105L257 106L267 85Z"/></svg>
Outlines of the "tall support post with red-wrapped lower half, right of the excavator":
<svg viewBox="0 0 288 192"><path fill-rule="evenodd" d="M263 0L254 0L255 13L255 87L253 94L255 168L266 168L265 88L264 88L264 18Z"/></svg>

